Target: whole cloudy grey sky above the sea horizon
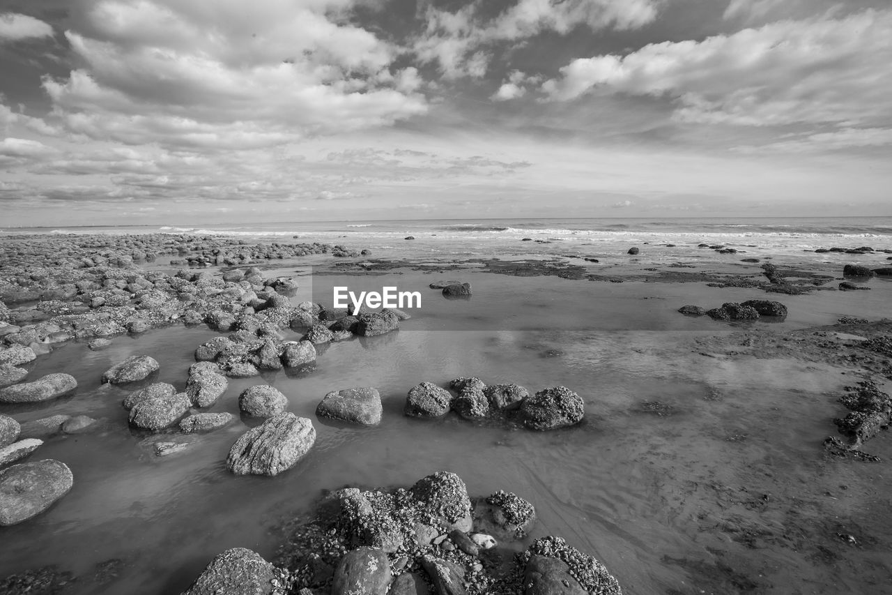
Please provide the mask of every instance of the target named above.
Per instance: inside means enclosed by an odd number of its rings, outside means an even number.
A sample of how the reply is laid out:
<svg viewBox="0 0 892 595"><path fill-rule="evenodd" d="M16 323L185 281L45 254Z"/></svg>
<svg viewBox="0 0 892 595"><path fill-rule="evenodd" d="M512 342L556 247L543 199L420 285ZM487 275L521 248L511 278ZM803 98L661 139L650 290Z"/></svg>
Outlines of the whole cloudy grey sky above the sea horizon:
<svg viewBox="0 0 892 595"><path fill-rule="evenodd" d="M888 0L0 0L0 226L892 214Z"/></svg>

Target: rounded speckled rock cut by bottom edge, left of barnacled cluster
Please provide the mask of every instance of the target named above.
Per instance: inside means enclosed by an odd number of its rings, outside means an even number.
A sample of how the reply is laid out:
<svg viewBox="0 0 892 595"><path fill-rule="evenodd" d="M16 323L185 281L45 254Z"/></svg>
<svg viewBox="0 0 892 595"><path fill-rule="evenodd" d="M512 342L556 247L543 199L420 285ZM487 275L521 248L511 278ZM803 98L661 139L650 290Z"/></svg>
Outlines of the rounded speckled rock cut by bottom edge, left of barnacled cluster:
<svg viewBox="0 0 892 595"><path fill-rule="evenodd" d="M275 567L245 548L227 549L209 564L183 595L271 595Z"/></svg>

